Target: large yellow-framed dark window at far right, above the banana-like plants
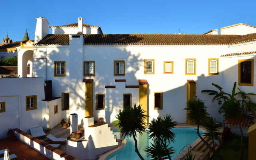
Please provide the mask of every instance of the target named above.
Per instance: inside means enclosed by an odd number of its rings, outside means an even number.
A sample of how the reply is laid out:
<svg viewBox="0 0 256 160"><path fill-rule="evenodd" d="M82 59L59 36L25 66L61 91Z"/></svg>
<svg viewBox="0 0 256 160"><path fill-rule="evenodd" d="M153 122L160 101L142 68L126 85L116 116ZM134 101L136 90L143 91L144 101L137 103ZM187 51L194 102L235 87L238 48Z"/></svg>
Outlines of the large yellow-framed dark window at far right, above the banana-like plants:
<svg viewBox="0 0 256 160"><path fill-rule="evenodd" d="M238 85L253 86L254 59L238 60Z"/></svg>

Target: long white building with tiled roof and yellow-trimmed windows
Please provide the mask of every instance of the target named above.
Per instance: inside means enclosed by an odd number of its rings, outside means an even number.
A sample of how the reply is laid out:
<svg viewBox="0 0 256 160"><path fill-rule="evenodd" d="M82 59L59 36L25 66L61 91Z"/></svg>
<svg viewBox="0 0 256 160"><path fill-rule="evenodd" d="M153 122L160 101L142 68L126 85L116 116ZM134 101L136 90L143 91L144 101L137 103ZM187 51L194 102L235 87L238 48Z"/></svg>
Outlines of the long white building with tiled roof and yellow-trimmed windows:
<svg viewBox="0 0 256 160"><path fill-rule="evenodd" d="M37 18L35 43L27 43L18 53L22 55L18 58L19 68L32 64L32 77L52 81L52 96L56 99L45 102L44 97L37 96L42 106L37 112L42 115L44 128L51 128L60 117L68 118L73 113L78 114L78 124L84 125L86 116L94 120L104 117L112 123L118 110L133 104L142 105L149 121L169 113L184 123L183 109L194 94L209 107L212 116L222 121L218 102L212 103L213 97L201 90L215 90L211 85L215 83L231 92L234 82L246 93L255 90L253 26L242 28L243 35L239 25L228 26L230 32L226 35L225 28L221 35L215 31L210 35L166 35L103 34L99 26L83 24L82 18L76 24L51 26L53 34L48 34L48 25L46 18ZM38 89L36 85L34 88ZM38 94L44 93L41 89ZM53 114L57 104L58 112ZM20 108L26 109L22 101ZM0 112L0 117L6 112ZM36 126L40 125L28 125Z"/></svg>

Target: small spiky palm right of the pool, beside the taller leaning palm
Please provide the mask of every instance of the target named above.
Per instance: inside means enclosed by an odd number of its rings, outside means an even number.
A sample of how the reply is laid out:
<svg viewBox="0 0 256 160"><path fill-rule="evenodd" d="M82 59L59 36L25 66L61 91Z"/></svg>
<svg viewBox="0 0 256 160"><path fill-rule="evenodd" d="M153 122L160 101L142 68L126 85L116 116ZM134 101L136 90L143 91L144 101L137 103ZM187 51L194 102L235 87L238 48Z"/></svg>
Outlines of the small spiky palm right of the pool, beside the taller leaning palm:
<svg viewBox="0 0 256 160"><path fill-rule="evenodd" d="M206 121L204 121L204 135L212 140L213 149L214 149L214 139L220 140L221 132L218 130L221 128L221 124L217 122L216 118L210 116Z"/></svg>

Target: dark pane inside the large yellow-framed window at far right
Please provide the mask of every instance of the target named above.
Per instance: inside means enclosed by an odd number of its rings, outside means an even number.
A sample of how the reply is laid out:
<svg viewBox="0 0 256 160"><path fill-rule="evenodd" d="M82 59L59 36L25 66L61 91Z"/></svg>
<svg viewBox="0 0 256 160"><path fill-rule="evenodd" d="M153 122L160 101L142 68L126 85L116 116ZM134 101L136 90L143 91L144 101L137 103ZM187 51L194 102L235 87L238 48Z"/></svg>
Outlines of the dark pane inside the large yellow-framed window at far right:
<svg viewBox="0 0 256 160"><path fill-rule="evenodd" d="M252 62L241 62L241 83L252 83Z"/></svg>

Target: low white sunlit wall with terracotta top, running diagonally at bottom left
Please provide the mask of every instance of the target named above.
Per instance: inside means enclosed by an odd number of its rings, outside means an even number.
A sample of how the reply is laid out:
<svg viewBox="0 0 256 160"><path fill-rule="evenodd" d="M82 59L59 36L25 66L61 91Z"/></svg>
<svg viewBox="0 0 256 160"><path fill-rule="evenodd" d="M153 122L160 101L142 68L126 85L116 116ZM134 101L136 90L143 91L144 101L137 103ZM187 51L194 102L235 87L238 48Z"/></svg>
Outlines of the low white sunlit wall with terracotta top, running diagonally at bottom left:
<svg viewBox="0 0 256 160"><path fill-rule="evenodd" d="M77 158L74 158L61 150L50 146L50 144L47 144L46 142L43 142L42 140L39 140L38 138L35 138L18 128L13 130L16 138L18 138L21 142L25 143L51 160L78 160Z"/></svg>

